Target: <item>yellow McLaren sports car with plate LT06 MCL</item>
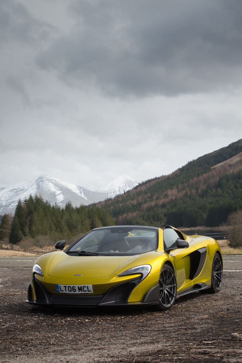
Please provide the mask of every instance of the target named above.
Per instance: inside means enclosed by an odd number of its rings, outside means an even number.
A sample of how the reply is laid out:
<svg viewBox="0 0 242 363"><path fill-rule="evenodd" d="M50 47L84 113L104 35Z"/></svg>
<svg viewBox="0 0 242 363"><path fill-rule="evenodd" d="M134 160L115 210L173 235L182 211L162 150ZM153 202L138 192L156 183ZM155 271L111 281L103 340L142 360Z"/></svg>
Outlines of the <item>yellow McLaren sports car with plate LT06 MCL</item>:
<svg viewBox="0 0 242 363"><path fill-rule="evenodd" d="M65 241L55 247L61 251L36 261L26 302L167 310L182 295L216 293L222 284L218 242L170 225L96 228L66 249Z"/></svg>

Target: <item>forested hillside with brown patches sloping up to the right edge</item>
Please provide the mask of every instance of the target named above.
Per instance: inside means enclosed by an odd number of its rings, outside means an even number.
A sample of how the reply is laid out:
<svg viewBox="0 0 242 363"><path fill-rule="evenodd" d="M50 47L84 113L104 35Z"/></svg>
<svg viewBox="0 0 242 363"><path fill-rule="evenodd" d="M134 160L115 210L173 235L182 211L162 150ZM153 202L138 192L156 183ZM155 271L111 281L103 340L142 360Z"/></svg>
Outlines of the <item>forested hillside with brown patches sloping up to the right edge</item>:
<svg viewBox="0 0 242 363"><path fill-rule="evenodd" d="M98 206L117 224L217 226L242 209L242 139Z"/></svg>

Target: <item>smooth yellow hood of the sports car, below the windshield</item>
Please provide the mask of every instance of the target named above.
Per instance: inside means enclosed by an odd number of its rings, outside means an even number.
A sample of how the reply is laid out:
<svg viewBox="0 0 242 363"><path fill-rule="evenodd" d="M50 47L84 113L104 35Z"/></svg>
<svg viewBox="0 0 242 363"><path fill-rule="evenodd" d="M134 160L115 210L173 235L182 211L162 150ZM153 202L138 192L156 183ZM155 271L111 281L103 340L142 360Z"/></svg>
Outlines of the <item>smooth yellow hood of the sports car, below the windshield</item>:
<svg viewBox="0 0 242 363"><path fill-rule="evenodd" d="M132 261L132 266L136 266L133 263L139 256L70 256L61 252L50 261L48 275L73 277L80 274L82 278L112 276Z"/></svg>

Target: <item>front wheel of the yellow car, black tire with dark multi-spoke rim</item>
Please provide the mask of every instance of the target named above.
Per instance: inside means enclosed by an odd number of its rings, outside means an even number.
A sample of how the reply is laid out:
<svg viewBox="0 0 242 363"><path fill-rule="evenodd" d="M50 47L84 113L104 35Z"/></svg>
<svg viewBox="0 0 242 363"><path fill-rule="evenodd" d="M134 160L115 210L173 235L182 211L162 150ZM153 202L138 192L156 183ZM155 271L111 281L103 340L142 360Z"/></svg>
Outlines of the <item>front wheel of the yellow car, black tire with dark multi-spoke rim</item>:
<svg viewBox="0 0 242 363"><path fill-rule="evenodd" d="M160 299L159 305L156 305L158 310L171 309L176 300L176 277L173 269L164 264L159 278Z"/></svg>

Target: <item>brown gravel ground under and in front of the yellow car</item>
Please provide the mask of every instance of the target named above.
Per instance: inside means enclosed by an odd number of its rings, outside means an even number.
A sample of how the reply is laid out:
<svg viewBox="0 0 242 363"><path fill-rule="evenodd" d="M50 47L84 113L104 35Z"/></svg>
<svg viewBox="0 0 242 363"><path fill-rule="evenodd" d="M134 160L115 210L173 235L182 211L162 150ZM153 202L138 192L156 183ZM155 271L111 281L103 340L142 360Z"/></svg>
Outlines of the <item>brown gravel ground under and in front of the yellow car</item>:
<svg viewBox="0 0 242 363"><path fill-rule="evenodd" d="M194 293L171 310L60 309L25 303L32 268L2 267L0 362L242 362L241 272L220 293Z"/></svg>

